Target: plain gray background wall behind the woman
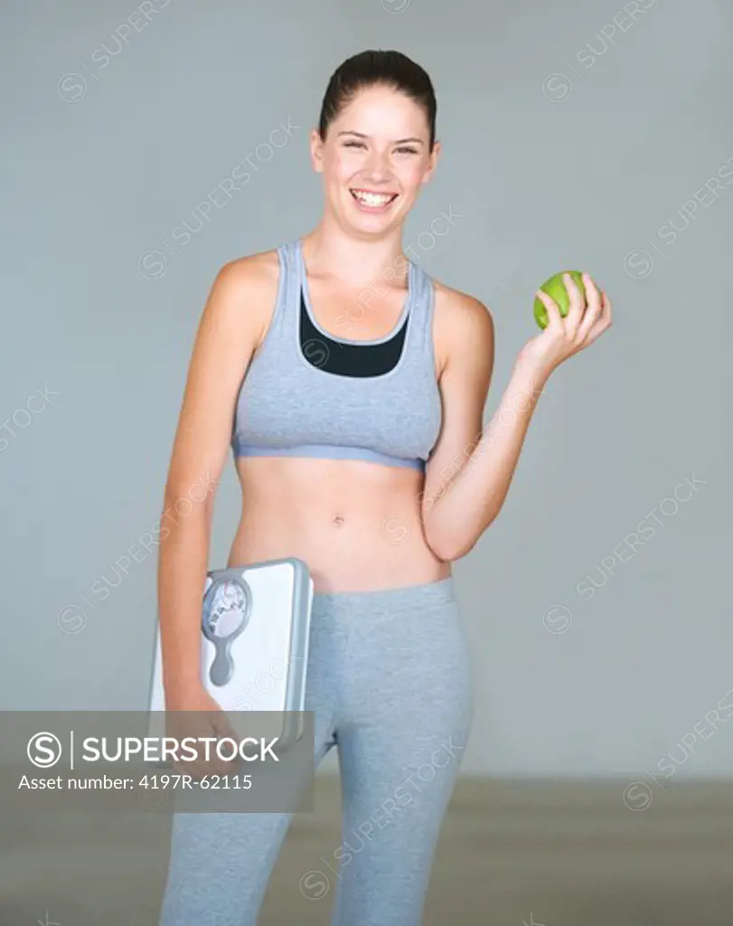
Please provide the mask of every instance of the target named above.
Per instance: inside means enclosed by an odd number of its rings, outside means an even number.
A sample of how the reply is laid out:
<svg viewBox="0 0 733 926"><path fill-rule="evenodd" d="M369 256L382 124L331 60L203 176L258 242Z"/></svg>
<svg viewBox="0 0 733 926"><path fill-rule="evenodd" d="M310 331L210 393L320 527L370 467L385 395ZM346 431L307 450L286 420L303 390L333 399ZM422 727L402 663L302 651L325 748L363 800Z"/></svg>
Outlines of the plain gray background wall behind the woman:
<svg viewBox="0 0 733 926"><path fill-rule="evenodd" d="M307 132L329 74L396 47L435 82L443 143L405 244L493 311L486 420L540 282L590 269L615 306L554 374L502 515L454 569L478 688L464 770L664 781L666 757L677 778L727 775L733 7L109 0L2 19L0 706L145 707L139 544L205 295L225 261L316 222ZM212 565L239 511L230 466Z"/></svg>

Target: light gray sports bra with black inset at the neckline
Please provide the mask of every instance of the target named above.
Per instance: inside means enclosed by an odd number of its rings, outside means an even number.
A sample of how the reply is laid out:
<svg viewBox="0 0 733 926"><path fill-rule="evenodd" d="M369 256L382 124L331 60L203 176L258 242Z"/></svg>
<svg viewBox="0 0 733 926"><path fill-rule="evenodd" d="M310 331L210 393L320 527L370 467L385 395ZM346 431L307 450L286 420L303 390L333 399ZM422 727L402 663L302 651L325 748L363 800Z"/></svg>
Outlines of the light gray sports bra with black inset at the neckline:
<svg viewBox="0 0 733 926"><path fill-rule="evenodd" d="M282 244L278 257L277 303L237 397L234 456L425 469L441 430L428 274L411 260L407 298L392 331L353 341L318 325L301 241Z"/></svg>

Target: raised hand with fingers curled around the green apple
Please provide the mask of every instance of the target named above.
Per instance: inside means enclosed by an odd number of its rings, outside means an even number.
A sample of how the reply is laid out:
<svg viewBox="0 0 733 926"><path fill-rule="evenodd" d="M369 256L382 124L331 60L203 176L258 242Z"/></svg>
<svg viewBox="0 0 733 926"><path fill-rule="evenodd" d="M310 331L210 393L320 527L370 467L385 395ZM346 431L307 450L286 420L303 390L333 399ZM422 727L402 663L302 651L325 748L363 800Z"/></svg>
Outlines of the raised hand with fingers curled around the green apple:
<svg viewBox="0 0 733 926"><path fill-rule="evenodd" d="M568 357L578 354L611 327L611 302L599 291L588 273L583 273L586 299L573 278L565 273L563 280L570 297L567 315L563 318L551 296L537 291L547 309L548 323L541 334L528 341L519 354L518 362L532 369L540 379L546 379Z"/></svg>

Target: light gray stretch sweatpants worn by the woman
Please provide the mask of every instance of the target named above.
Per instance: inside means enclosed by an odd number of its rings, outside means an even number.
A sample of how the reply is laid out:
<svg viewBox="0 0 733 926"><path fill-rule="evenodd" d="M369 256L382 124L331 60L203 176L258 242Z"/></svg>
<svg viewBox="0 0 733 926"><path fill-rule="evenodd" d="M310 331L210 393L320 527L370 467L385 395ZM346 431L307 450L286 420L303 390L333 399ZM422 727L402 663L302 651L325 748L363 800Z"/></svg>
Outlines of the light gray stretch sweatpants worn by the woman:
<svg viewBox="0 0 733 926"><path fill-rule="evenodd" d="M336 882L331 926L419 926L473 716L453 578L315 594L305 709L316 764L338 749L342 842L338 875L304 871L300 889ZM291 819L176 814L160 926L255 926Z"/></svg>

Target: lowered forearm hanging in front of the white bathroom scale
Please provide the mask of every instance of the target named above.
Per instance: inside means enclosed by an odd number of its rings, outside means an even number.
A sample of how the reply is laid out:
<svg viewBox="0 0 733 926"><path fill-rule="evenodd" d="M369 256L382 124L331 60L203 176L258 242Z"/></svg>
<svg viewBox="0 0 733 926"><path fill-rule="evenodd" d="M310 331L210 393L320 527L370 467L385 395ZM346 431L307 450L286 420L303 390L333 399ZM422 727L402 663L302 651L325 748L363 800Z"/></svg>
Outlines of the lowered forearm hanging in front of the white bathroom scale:
<svg viewBox="0 0 733 926"><path fill-rule="evenodd" d="M201 681L201 606L211 511L200 503L174 523L164 524L168 531L161 533L157 593L163 685L171 692Z"/></svg>

